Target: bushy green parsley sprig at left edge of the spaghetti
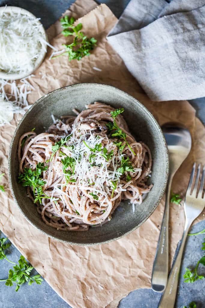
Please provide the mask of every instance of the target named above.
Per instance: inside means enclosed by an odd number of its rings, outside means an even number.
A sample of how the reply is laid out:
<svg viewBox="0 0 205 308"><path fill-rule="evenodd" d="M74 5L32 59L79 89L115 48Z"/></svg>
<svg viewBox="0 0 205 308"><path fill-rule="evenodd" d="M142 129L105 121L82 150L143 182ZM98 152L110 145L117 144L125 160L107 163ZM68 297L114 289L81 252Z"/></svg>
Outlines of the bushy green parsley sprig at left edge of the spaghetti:
<svg viewBox="0 0 205 308"><path fill-rule="evenodd" d="M41 172L48 169L48 166L44 166L44 163L38 163L34 171L31 168L24 168L23 173L18 176L18 182L22 186L30 186L33 188L34 203L37 201L42 203L42 198L47 198L43 193L42 187L45 185L45 181L41 178Z"/></svg>

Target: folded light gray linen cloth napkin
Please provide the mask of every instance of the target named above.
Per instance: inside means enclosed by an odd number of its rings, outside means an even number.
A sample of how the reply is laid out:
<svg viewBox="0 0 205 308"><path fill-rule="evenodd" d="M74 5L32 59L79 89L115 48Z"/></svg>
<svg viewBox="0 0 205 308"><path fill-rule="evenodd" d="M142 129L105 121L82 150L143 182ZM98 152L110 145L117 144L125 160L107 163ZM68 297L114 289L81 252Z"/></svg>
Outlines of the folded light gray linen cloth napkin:
<svg viewBox="0 0 205 308"><path fill-rule="evenodd" d="M205 0L131 0L107 39L152 100L205 96Z"/></svg>

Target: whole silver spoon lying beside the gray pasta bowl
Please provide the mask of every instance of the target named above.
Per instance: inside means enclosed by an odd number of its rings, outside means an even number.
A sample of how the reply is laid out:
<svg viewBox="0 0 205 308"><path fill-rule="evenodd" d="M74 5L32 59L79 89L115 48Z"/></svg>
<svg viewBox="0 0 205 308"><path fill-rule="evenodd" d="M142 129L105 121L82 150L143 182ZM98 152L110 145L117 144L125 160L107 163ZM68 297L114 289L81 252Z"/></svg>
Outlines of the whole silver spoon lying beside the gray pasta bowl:
<svg viewBox="0 0 205 308"><path fill-rule="evenodd" d="M181 124L166 123L162 126L162 131L168 146L169 179L166 191L164 217L152 269L152 290L155 292L163 292L166 288L168 279L168 227L172 179L191 150L190 132Z"/></svg>

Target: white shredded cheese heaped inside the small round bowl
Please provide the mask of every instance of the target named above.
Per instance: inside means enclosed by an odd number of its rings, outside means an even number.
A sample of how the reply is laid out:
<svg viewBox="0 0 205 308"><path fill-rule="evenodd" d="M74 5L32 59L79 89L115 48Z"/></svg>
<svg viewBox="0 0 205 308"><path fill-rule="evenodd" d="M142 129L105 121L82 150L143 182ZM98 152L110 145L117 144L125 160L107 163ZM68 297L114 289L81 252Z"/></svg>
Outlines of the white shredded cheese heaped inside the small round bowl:
<svg viewBox="0 0 205 308"><path fill-rule="evenodd" d="M46 45L53 48L44 39L39 19L3 11L0 15L0 71L29 75L41 50L46 52Z"/></svg>

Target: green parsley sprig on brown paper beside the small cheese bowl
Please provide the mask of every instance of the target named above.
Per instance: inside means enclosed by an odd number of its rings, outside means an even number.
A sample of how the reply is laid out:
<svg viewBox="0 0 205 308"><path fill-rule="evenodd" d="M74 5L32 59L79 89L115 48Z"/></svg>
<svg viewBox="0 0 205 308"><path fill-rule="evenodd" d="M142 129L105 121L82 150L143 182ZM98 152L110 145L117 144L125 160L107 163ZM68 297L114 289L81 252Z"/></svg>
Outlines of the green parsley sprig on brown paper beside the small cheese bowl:
<svg viewBox="0 0 205 308"><path fill-rule="evenodd" d="M94 49L97 43L97 39L91 37L88 38L82 31L82 24L79 23L76 26L74 26L75 18L71 17L69 19L68 16L65 16L64 18L60 19L61 26L64 29L62 31L62 34L64 36L73 35L73 43L71 44L62 44L63 48L65 49L65 52L63 52L60 55L57 55L56 57L59 57L61 55L68 55L69 61L73 59L81 60L84 56L89 56L90 51ZM56 58L53 57L53 58Z"/></svg>

